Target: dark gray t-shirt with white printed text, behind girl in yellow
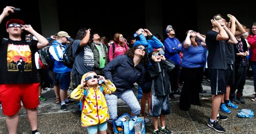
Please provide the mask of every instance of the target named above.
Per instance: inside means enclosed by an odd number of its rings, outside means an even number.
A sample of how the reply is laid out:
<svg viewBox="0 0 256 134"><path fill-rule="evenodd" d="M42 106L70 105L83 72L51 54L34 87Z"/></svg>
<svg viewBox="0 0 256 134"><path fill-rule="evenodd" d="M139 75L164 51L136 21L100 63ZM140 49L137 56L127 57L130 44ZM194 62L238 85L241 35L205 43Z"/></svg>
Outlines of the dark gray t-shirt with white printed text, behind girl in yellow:
<svg viewBox="0 0 256 134"><path fill-rule="evenodd" d="M73 73L83 75L84 73L93 71L94 58L90 46L80 47L80 42L81 40L75 40L72 44L73 57L78 52L78 55L75 57Z"/></svg>

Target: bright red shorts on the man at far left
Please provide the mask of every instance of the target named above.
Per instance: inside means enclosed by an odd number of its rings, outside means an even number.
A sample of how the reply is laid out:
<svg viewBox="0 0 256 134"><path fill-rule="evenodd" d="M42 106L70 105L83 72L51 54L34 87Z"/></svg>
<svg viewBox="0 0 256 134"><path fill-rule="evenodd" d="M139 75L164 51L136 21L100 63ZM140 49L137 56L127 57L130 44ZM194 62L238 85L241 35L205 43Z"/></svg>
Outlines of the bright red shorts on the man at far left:
<svg viewBox="0 0 256 134"><path fill-rule="evenodd" d="M0 84L0 101L4 115L17 114L22 108L20 101L25 109L35 109L39 104L38 86L39 83Z"/></svg>

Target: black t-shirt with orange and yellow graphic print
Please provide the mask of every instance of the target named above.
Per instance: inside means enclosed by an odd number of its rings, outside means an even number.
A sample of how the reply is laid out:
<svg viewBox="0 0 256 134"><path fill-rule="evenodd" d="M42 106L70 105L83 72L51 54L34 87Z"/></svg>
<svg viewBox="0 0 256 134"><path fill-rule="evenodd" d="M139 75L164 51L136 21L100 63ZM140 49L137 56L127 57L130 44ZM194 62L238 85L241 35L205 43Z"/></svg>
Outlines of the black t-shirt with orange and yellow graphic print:
<svg viewBox="0 0 256 134"><path fill-rule="evenodd" d="M1 38L2 41L2 38ZM37 41L2 41L0 45L0 84L36 83L34 55Z"/></svg>

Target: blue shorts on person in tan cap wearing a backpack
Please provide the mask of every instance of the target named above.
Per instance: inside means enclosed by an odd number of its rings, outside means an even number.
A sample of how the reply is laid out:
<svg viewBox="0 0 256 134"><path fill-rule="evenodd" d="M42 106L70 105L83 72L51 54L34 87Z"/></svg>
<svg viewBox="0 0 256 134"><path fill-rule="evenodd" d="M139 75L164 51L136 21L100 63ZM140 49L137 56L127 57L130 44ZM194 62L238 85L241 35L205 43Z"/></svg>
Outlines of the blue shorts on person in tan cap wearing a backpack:
<svg viewBox="0 0 256 134"><path fill-rule="evenodd" d="M63 72L63 73L57 73L54 72L53 74L53 85L58 86L60 85L61 90L68 90L70 85L70 72Z"/></svg>

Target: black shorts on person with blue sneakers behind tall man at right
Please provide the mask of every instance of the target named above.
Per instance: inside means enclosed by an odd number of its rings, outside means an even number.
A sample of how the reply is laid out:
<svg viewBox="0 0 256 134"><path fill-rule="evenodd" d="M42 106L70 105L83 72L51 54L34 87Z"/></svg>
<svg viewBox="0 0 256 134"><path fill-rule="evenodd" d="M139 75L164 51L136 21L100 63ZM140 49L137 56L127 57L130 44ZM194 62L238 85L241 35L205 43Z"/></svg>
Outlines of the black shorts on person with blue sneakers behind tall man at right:
<svg viewBox="0 0 256 134"><path fill-rule="evenodd" d="M227 64L227 69L225 70L226 84L234 85L234 64Z"/></svg>

